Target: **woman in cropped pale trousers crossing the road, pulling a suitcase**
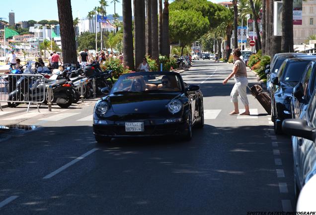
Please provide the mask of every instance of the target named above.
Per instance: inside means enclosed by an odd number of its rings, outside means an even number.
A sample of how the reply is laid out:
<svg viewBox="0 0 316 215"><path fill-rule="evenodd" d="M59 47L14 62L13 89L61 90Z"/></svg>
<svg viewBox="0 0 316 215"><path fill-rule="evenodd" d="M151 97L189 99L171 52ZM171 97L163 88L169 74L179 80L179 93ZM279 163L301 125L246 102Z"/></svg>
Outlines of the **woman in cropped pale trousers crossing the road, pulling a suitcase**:
<svg viewBox="0 0 316 215"><path fill-rule="evenodd" d="M227 79L223 81L223 84L225 85L228 82L228 80L232 78L233 76L235 79L235 85L231 92L231 100L234 103L234 110L230 113L230 115L239 113L238 95L245 108L245 111L243 113L240 113L240 115L250 115L249 102L247 99L248 80L247 80L246 65L244 61L240 59L241 52L239 49L234 50L233 56L235 60L233 72L228 76Z"/></svg>

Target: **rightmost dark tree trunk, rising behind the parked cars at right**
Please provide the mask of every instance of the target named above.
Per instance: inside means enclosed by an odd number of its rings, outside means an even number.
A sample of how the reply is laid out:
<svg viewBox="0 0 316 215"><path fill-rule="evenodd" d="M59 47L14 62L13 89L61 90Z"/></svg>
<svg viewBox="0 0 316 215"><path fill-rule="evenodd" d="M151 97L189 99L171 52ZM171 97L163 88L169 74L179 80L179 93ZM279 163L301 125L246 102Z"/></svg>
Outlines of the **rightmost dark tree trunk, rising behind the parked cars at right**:
<svg viewBox="0 0 316 215"><path fill-rule="evenodd" d="M283 0L281 52L294 52L293 0Z"/></svg>

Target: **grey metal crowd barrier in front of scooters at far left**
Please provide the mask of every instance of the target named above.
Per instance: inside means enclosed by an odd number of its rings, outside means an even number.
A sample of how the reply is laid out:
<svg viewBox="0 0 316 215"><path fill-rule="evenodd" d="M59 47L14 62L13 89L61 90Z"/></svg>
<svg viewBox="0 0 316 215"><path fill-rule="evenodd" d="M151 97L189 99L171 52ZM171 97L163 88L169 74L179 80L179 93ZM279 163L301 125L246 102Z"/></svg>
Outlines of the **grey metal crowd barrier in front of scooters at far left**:
<svg viewBox="0 0 316 215"><path fill-rule="evenodd" d="M1 102L7 102L9 107L19 103L42 104L46 100L45 78L38 74L0 74L0 108Z"/></svg>

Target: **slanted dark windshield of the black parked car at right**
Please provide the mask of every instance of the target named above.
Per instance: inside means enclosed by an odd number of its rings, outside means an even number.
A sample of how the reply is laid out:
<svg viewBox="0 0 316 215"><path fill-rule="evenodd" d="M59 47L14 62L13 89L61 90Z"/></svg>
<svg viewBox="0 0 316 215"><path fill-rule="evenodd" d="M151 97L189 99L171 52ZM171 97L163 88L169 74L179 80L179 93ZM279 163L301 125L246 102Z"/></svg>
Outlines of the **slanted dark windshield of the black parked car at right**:
<svg viewBox="0 0 316 215"><path fill-rule="evenodd" d="M286 68L283 76L284 82L299 82L306 66L310 61L292 62Z"/></svg>

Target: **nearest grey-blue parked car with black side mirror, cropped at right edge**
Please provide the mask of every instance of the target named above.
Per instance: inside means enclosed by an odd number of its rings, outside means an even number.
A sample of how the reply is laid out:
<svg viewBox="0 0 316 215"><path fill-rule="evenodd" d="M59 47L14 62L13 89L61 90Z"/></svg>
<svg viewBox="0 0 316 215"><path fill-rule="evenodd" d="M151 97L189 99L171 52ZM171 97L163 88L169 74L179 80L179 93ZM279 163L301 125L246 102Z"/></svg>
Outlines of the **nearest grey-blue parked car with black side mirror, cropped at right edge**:
<svg viewBox="0 0 316 215"><path fill-rule="evenodd" d="M295 196L316 174L316 91L300 119L286 119L284 133L292 136ZM315 201L314 201L315 202Z"/></svg>

